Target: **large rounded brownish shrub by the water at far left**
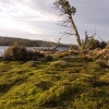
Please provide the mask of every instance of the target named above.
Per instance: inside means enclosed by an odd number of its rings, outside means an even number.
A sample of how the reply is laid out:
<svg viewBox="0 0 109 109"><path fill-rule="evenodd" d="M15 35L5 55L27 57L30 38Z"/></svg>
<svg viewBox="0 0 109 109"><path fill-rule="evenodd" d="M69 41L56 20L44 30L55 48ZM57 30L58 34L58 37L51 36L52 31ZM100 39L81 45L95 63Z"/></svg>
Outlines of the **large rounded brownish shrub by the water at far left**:
<svg viewBox="0 0 109 109"><path fill-rule="evenodd" d="M27 51L25 46L20 46L19 44L9 47L3 55L4 60L13 61L37 60L37 58L44 57L44 53L40 53L39 51Z"/></svg>

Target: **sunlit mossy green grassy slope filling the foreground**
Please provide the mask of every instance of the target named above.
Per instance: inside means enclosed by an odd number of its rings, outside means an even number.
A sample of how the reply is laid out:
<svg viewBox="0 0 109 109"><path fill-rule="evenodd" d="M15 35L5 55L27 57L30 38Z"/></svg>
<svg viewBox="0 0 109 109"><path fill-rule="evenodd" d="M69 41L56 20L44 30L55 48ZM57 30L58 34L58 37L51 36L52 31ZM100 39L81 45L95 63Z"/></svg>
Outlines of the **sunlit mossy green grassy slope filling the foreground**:
<svg viewBox="0 0 109 109"><path fill-rule="evenodd" d="M61 60L69 65L1 61L0 109L109 109L109 70Z"/></svg>

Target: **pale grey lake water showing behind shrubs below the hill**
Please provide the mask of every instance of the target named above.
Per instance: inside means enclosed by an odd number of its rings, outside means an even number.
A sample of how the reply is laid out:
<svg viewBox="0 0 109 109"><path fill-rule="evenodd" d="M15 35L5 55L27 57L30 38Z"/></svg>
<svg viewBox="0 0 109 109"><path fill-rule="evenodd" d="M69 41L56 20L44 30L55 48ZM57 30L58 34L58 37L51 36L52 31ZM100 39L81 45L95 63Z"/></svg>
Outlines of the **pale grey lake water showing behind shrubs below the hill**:
<svg viewBox="0 0 109 109"><path fill-rule="evenodd" d="M9 48L9 46L0 46L0 56L3 56L4 51ZM35 49L44 49L47 47L26 47L27 50L35 50ZM69 47L58 47L59 51L68 50Z"/></svg>

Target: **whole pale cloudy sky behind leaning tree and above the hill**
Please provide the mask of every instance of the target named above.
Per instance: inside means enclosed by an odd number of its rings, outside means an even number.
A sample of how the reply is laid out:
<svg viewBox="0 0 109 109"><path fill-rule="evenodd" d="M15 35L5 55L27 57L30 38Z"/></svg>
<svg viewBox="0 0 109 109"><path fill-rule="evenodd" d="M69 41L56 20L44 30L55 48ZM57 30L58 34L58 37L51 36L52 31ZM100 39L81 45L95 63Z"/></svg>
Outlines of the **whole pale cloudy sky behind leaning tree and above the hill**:
<svg viewBox="0 0 109 109"><path fill-rule="evenodd" d="M0 36L76 44L74 36L63 36L53 8L56 0L0 0ZM73 15L78 34L85 31L96 39L109 40L109 0L69 0L76 8ZM68 29L68 28L66 28ZM99 37L98 37L99 36Z"/></svg>

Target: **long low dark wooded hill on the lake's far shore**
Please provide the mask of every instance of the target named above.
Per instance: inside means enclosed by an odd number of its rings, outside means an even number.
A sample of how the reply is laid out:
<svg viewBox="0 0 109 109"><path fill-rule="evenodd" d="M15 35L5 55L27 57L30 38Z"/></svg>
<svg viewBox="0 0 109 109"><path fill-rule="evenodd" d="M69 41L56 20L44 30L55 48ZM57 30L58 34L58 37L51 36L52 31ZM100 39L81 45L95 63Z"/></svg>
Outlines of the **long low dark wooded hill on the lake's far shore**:
<svg viewBox="0 0 109 109"><path fill-rule="evenodd" d="M25 45L26 47L53 47L56 45L56 43L53 41L31 40L31 39L0 36L0 46L11 46L15 41L17 41L21 45ZM59 46L63 47L63 46L69 46L69 45L59 44Z"/></svg>

